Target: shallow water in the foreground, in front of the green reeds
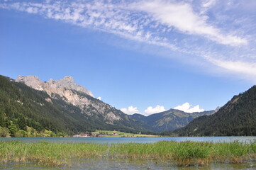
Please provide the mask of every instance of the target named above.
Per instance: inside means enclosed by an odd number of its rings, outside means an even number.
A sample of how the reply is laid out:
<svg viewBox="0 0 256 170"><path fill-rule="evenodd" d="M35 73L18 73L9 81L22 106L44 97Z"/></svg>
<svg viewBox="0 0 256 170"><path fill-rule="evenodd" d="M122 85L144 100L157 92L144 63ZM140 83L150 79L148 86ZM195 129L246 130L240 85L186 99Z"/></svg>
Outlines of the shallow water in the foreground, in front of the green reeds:
<svg viewBox="0 0 256 170"><path fill-rule="evenodd" d="M256 169L255 162L247 162L243 164L209 164L208 166L177 166L167 162L159 162L157 160L135 160L135 159L75 159L72 165L62 167L38 166L33 163L27 164L4 164L0 165L0 169Z"/></svg>

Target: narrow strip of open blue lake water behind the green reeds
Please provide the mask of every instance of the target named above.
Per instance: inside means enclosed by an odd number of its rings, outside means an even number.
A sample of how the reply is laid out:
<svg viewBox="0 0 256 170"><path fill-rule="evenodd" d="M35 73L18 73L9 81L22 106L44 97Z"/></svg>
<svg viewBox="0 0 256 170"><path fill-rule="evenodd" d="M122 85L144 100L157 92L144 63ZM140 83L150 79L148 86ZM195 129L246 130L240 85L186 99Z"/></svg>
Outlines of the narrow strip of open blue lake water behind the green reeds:
<svg viewBox="0 0 256 170"><path fill-rule="evenodd" d="M22 142L95 142L95 143L125 143L125 142L159 142L159 141L197 141L197 142L250 142L256 137L10 137L0 138L1 141L20 140Z"/></svg>

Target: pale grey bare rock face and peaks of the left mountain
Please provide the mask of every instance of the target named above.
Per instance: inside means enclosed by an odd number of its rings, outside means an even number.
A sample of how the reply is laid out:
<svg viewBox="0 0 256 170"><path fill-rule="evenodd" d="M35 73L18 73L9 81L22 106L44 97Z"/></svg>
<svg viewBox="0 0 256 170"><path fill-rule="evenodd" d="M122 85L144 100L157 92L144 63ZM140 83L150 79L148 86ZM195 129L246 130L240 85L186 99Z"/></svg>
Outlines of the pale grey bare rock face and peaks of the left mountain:
<svg viewBox="0 0 256 170"><path fill-rule="evenodd" d="M39 91L45 91L52 98L60 97L63 101L79 107L82 113L104 118L107 123L112 124L113 120L121 120L121 113L116 113L116 109L108 104L94 98L91 91L74 82L72 77L64 77L60 80L40 81L35 76L19 76L17 82L23 82L27 86ZM50 101L48 99L48 101Z"/></svg>

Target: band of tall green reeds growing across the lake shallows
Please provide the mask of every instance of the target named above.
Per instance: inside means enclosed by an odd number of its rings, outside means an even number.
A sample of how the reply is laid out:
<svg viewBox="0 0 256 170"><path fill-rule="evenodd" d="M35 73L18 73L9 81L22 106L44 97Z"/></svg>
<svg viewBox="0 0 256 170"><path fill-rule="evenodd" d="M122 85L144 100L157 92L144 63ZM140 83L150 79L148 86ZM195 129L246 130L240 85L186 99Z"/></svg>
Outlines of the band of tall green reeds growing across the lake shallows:
<svg viewBox="0 0 256 170"><path fill-rule="evenodd" d="M67 166L74 158L107 157L157 159L177 165L240 163L256 158L256 142L156 142L156 143L51 143L0 142L1 164L37 162L48 166Z"/></svg>

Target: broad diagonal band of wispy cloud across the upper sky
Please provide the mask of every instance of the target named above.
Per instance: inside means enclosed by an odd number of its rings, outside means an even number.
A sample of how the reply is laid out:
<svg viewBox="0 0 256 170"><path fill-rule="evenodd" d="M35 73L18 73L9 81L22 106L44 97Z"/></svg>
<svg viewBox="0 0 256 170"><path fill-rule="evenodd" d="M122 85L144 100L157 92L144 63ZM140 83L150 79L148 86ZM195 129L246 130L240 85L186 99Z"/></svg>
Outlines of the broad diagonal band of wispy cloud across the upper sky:
<svg viewBox="0 0 256 170"><path fill-rule="evenodd" d="M256 81L253 1L3 1L0 8L181 52ZM254 8L254 7L255 8ZM254 11L254 12L253 12ZM167 56L168 57L168 56ZM172 56L173 57L173 56Z"/></svg>

